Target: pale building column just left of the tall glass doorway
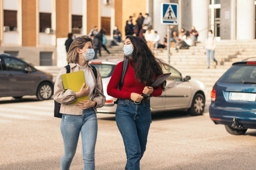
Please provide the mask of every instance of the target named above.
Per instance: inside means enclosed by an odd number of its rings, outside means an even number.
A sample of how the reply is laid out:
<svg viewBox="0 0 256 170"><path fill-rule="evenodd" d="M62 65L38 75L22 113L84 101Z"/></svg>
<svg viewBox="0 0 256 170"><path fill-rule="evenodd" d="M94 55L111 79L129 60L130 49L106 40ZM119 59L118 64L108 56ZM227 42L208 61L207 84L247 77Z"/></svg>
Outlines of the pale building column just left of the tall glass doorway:
<svg viewBox="0 0 256 170"><path fill-rule="evenodd" d="M209 0L192 0L192 25L198 31L198 41L205 41L209 30ZM189 29L190 28L185 28Z"/></svg>

